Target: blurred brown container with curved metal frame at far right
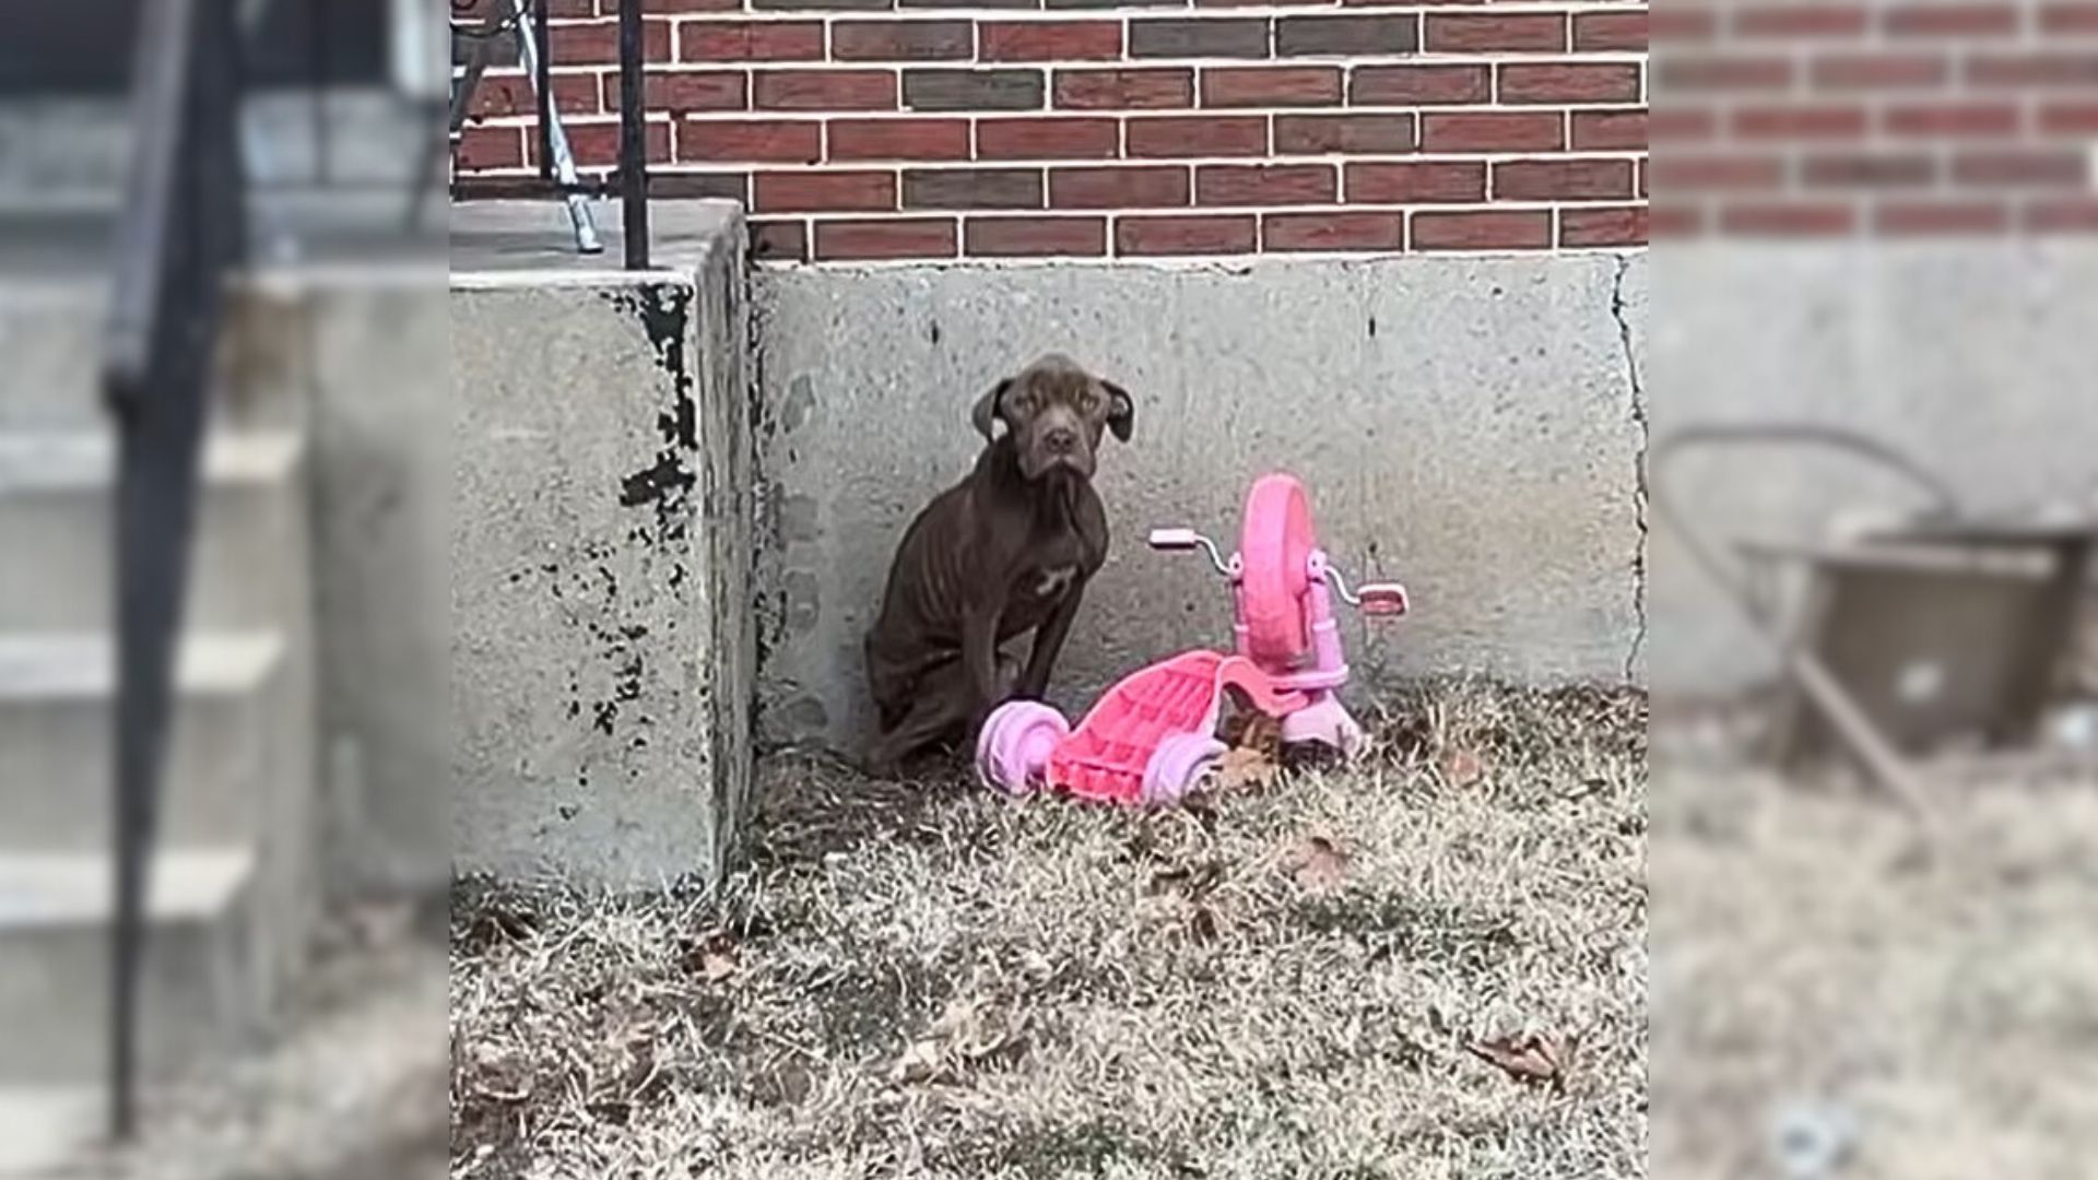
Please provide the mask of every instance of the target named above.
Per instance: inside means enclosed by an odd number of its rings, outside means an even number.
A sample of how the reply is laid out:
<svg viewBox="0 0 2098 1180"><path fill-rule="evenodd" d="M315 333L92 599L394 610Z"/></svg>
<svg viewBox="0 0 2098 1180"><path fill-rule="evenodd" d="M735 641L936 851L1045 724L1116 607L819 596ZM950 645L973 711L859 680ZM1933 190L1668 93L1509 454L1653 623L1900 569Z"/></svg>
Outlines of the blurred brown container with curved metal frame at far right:
<svg viewBox="0 0 2098 1180"><path fill-rule="evenodd" d="M1834 540L1737 540L1722 561L1670 496L1668 464L1693 447L1813 445L1901 475L1928 508ZM2067 649L2098 559L2098 517L1974 514L1922 464L1850 430L1813 424L1708 424L1662 439L1649 458L1655 512L1779 655L1769 754L1798 768L1832 745L1930 819L1913 754L1947 739L1993 747L2039 741L2067 680ZM1804 569L1787 611L1758 573Z"/></svg>

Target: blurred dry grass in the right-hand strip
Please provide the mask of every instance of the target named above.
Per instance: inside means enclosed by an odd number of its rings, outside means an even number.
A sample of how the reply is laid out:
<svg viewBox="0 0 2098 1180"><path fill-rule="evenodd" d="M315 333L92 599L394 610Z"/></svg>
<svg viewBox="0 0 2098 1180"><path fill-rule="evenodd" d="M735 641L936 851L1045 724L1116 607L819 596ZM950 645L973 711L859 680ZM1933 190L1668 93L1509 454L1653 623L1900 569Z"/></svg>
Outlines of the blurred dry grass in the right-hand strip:
<svg viewBox="0 0 2098 1180"><path fill-rule="evenodd" d="M2094 1174L2088 771L1941 768L1922 857L1884 798L1657 762L1655 1176L1787 1176L1787 1125L1836 1149L1804 1180Z"/></svg>

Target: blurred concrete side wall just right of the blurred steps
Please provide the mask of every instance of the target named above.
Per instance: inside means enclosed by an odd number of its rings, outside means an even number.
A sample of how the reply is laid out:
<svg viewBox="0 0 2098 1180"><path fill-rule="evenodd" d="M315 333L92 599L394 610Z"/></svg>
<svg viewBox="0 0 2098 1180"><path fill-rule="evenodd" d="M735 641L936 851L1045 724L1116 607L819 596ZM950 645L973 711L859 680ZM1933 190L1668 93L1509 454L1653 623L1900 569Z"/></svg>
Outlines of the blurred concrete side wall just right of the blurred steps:
<svg viewBox="0 0 2098 1180"><path fill-rule="evenodd" d="M327 890L438 886L451 865L445 273L407 258L269 269L233 313L222 412L306 437Z"/></svg>

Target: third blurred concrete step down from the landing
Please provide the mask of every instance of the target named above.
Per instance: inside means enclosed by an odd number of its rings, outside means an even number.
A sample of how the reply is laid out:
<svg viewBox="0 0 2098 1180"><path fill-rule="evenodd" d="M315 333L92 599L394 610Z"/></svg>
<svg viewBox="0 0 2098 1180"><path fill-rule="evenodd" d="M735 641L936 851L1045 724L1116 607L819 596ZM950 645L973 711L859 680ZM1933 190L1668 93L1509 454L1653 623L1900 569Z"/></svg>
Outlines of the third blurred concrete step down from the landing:
<svg viewBox="0 0 2098 1180"><path fill-rule="evenodd" d="M256 859L162 850L149 882L141 1060L168 1073L260 1029ZM111 859L0 852L0 1092L94 1086L109 1027Z"/></svg>

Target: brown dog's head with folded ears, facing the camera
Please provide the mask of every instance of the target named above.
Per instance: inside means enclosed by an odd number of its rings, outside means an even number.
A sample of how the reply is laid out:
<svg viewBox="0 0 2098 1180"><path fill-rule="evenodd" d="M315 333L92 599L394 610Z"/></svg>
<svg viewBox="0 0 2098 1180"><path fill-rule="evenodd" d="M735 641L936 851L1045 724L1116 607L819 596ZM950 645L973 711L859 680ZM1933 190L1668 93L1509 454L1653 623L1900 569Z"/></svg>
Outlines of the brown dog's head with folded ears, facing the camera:
<svg viewBox="0 0 2098 1180"><path fill-rule="evenodd" d="M1026 479L1055 470L1093 479L1101 433L1114 430L1127 443L1137 407L1122 386L1051 353L994 384L971 418L984 439L997 437L997 424L1005 422Z"/></svg>

